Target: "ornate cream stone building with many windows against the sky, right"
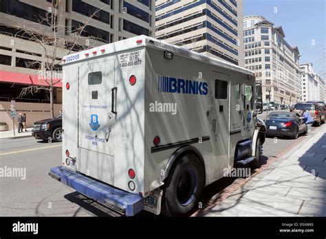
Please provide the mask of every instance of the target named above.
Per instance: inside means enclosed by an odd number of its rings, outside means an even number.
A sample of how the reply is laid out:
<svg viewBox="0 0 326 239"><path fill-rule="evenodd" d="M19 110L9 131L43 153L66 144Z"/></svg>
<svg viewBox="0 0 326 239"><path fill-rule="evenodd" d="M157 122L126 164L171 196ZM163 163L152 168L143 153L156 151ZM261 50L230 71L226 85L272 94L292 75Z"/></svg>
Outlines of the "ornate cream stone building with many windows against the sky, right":
<svg viewBox="0 0 326 239"><path fill-rule="evenodd" d="M243 19L245 67L263 86L263 101L295 104L302 100L298 47L285 41L282 27L263 16Z"/></svg>

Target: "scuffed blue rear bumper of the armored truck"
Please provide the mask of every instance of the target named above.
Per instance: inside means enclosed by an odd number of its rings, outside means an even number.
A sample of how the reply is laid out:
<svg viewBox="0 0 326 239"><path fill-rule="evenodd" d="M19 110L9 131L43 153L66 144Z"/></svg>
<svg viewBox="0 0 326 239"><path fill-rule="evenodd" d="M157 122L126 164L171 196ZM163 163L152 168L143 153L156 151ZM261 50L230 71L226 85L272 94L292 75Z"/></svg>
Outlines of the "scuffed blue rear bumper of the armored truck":
<svg viewBox="0 0 326 239"><path fill-rule="evenodd" d="M144 208L142 196L119 190L105 183L100 183L83 174L69 170L64 166L52 168L49 175L61 181L61 183L74 188L77 192L126 216L134 216Z"/></svg>

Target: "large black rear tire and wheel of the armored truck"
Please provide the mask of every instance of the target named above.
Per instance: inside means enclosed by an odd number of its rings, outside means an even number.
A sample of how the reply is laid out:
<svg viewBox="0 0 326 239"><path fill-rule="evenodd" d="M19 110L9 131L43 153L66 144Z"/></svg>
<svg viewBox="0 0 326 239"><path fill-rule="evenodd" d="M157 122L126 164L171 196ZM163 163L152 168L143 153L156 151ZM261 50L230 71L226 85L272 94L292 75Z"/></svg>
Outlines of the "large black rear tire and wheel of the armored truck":
<svg viewBox="0 0 326 239"><path fill-rule="evenodd" d="M199 159L192 153L182 155L164 184L162 213L166 216L188 216L202 194L204 177Z"/></svg>

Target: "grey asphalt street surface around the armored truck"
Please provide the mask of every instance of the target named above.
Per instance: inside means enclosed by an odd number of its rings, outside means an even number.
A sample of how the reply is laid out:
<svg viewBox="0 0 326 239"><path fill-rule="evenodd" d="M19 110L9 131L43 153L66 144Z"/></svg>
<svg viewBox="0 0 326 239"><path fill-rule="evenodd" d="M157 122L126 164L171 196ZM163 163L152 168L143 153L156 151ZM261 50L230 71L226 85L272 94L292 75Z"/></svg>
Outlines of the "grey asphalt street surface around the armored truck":
<svg viewBox="0 0 326 239"><path fill-rule="evenodd" d="M291 148L297 140L300 140L300 137L276 141L273 138L266 139L263 145L265 161L286 151L286 148ZM0 140L0 168L26 170L25 179L0 177L0 216L118 215L52 179L48 172L50 168L59 165L61 165L61 143L49 144L32 137ZM209 200L234 180L221 179L206 187L204 201ZM148 215L146 212L140 214L146 215Z"/></svg>

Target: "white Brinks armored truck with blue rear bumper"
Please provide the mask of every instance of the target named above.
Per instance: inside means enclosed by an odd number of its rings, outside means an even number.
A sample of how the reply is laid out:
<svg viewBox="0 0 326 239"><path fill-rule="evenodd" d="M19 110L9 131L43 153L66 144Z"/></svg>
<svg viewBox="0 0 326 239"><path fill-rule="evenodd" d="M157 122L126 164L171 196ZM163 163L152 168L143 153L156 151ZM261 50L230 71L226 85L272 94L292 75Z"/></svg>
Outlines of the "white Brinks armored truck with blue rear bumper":
<svg viewBox="0 0 326 239"><path fill-rule="evenodd" d="M259 167L252 71L148 36L65 56L62 166L50 176L133 216L191 213L230 167Z"/></svg>

